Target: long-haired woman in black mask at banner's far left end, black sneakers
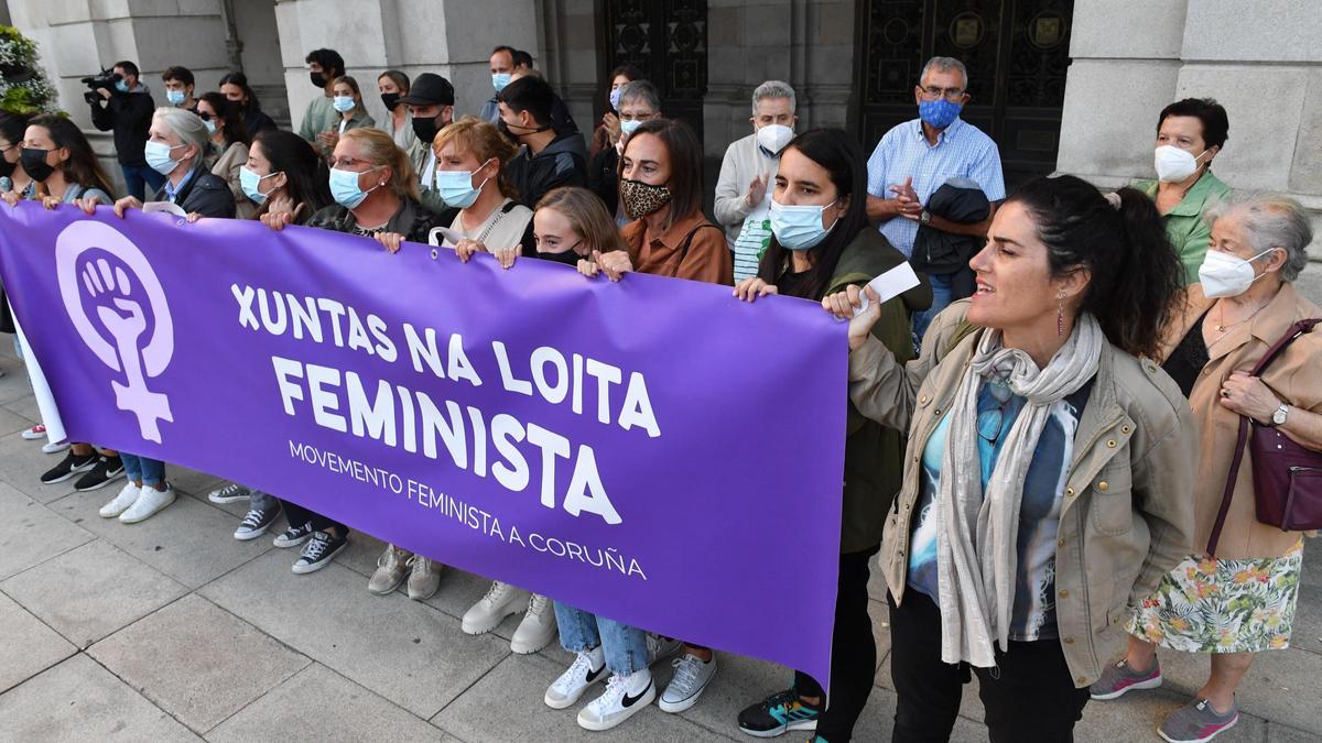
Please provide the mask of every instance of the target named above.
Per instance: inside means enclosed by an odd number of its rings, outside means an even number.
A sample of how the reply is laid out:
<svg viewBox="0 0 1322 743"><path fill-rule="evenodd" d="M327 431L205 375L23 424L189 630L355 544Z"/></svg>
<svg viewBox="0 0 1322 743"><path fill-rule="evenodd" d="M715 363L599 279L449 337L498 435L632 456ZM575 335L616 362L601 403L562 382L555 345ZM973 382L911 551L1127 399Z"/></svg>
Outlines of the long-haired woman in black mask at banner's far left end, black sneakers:
<svg viewBox="0 0 1322 743"><path fill-rule="evenodd" d="M19 145L20 163L30 184L24 190L25 196L12 190L4 193L9 206L20 198L40 200L46 209L75 202L93 209L97 204L112 201L110 178L87 137L69 119L50 114L36 116L28 122ZM102 450L98 453L86 443L74 443L69 448L59 464L41 475L44 484L63 483L81 473L74 489L87 492L103 488L124 473L124 465L114 451Z"/></svg>

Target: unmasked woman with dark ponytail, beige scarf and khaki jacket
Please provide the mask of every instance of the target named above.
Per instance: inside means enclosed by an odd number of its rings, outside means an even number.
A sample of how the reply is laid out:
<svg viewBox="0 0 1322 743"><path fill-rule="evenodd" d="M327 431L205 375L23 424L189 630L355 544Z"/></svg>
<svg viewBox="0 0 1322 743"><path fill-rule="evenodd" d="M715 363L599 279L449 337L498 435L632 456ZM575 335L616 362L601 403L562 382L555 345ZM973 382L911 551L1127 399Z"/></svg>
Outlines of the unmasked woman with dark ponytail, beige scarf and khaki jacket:
<svg viewBox="0 0 1322 743"><path fill-rule="evenodd" d="M880 565L895 740L947 739L970 669L999 740L1071 740L1100 637L1192 549L1198 434L1151 361L1182 270L1142 193L1030 181L969 266L977 290L916 361L857 287L850 401L908 434Z"/></svg>

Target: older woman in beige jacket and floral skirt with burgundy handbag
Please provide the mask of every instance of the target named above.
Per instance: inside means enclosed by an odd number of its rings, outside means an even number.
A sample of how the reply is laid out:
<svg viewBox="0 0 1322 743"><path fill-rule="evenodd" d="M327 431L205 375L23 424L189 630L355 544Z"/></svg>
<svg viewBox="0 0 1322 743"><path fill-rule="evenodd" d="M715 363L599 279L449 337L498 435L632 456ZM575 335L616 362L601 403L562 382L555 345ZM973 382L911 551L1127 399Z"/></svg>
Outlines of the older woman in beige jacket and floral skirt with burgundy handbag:
<svg viewBox="0 0 1322 743"><path fill-rule="evenodd" d="M1322 317L1293 286L1309 260L1307 214L1290 198L1249 194L1212 206L1206 221L1211 241L1199 279L1215 304L1194 328L1206 360L1190 395L1202 427L1194 549L1129 617L1125 658L1092 687L1093 699L1114 699L1161 686L1157 645L1208 653L1207 684L1158 728L1175 743L1211 740L1233 726L1235 687L1253 653L1286 648L1294 624L1303 537L1257 521L1248 452L1215 554L1206 554L1240 416L1322 451L1322 332L1300 336L1261 377L1248 375L1294 323Z"/></svg>

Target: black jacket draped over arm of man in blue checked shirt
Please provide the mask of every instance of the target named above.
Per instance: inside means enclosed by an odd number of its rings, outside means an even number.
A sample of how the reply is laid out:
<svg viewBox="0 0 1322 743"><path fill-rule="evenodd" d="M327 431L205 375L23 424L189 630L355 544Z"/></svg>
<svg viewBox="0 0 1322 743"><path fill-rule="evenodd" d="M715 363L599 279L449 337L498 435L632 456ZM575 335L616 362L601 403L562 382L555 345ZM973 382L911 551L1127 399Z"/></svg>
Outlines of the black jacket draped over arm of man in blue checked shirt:
<svg viewBox="0 0 1322 743"><path fill-rule="evenodd" d="M992 202L973 181L951 178L927 200L927 210L949 222L974 225L988 218ZM954 235L920 226L914 238L914 254L910 262L915 271L923 274L954 274L957 278L968 279L960 280L961 286L956 287L958 291L954 299L962 299L973 293L973 271L969 268L969 260L982 247L982 242L984 239L978 237Z"/></svg>

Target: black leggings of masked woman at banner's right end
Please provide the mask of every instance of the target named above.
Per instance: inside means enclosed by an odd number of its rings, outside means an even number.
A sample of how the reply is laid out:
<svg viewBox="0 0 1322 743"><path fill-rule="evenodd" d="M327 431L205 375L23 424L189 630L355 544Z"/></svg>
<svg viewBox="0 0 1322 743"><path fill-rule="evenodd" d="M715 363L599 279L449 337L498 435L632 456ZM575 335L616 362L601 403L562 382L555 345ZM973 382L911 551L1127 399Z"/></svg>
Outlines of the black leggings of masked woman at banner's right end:
<svg viewBox="0 0 1322 743"><path fill-rule="evenodd" d="M830 743L849 740L863 714L876 677L876 639L867 613L869 562L879 547L839 555L836 592L836 635L830 646L830 705L817 718L817 735ZM822 697L817 680L795 672L795 690L801 697Z"/></svg>

